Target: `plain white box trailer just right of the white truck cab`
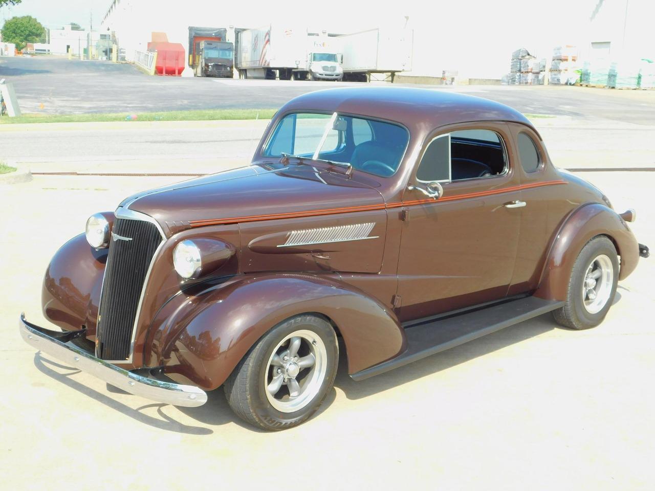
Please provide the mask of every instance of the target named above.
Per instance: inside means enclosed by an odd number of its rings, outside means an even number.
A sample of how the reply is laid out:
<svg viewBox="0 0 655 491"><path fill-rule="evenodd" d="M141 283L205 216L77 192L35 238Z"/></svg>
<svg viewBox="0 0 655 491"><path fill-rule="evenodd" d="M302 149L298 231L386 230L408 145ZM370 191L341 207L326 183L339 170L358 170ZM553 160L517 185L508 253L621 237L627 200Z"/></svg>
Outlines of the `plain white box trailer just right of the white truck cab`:
<svg viewBox="0 0 655 491"><path fill-rule="evenodd" d="M383 79L393 82L396 73L411 70L413 39L412 29L383 27L337 36L343 79L367 82L371 74L383 73Z"/></svg>

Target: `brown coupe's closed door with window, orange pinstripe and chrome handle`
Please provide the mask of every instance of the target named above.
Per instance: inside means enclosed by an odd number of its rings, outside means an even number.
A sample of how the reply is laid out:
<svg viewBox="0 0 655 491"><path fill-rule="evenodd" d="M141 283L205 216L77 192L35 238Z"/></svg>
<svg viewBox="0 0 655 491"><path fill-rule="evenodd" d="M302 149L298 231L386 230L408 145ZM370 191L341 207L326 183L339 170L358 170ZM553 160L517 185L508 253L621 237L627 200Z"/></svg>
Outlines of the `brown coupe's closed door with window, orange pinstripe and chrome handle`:
<svg viewBox="0 0 655 491"><path fill-rule="evenodd" d="M489 122L426 139L403 194L402 321L506 297L521 216L510 141L506 124ZM436 199L426 196L433 182L443 188Z"/></svg>

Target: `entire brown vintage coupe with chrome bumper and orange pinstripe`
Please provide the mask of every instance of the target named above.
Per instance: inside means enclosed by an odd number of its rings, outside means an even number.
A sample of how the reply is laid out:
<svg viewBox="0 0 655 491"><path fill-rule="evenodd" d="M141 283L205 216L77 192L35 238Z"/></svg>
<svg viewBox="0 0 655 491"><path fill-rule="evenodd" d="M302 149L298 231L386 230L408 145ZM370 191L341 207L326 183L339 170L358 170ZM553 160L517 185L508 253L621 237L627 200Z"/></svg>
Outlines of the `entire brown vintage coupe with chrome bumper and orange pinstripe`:
<svg viewBox="0 0 655 491"><path fill-rule="evenodd" d="M648 248L488 100L343 88L287 103L252 164L124 200L56 253L43 353L154 401L225 388L265 429L355 380L553 312L599 324Z"/></svg>

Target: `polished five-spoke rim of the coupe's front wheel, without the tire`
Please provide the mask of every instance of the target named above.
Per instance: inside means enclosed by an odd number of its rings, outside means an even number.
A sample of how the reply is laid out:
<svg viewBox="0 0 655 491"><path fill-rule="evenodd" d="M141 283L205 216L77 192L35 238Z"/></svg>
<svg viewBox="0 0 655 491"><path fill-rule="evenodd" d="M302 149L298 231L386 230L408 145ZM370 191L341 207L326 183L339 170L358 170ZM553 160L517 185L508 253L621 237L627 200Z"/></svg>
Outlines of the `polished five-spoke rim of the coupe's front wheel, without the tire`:
<svg viewBox="0 0 655 491"><path fill-rule="evenodd" d="M327 351L322 339L306 329L286 336L269 358L264 385L271 406L295 412L320 391L327 373Z"/></svg>

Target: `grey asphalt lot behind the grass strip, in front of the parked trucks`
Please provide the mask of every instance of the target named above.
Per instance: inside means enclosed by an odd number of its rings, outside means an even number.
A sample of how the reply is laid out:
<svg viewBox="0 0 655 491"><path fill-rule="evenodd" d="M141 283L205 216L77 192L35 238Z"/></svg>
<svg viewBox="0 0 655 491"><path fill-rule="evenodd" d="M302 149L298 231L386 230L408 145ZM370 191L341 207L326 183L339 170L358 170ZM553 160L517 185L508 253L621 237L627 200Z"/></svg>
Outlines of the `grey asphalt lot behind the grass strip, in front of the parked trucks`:
<svg viewBox="0 0 655 491"><path fill-rule="evenodd" d="M14 83L23 111L65 114L276 108L312 90L367 86L346 82L151 77L130 64L42 56L0 58L0 77ZM655 124L655 91L652 90L635 94L629 90L566 86L427 87L489 98L523 113Z"/></svg>

